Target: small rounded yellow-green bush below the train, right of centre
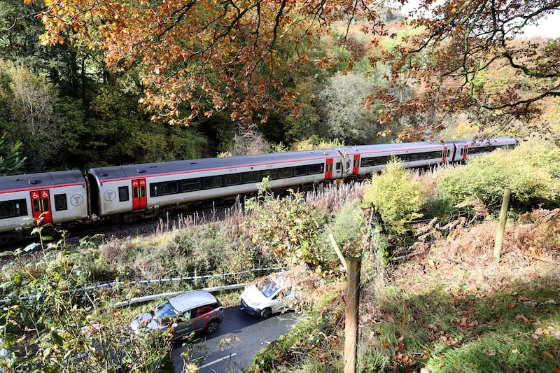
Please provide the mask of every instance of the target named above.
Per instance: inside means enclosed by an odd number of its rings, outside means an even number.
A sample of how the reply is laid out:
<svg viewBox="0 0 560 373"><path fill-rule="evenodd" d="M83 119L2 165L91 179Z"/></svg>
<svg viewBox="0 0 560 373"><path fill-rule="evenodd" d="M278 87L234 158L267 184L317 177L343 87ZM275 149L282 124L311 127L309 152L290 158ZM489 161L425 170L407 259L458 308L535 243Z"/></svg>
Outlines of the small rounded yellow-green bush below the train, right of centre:
<svg viewBox="0 0 560 373"><path fill-rule="evenodd" d="M408 170L402 169L402 162L398 160L391 160L381 174L372 176L363 198L374 204L388 232L402 234L407 231L407 223L421 217L420 183Z"/></svg>

